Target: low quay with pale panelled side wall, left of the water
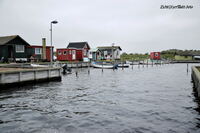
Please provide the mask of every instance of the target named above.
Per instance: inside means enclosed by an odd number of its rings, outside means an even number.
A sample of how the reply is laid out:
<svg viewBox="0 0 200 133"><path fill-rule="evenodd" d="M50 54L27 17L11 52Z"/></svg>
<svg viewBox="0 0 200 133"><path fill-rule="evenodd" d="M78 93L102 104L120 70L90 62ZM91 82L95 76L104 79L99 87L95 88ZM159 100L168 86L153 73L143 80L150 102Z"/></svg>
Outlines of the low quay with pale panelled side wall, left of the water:
<svg viewBox="0 0 200 133"><path fill-rule="evenodd" d="M18 87L39 82L61 81L61 68L0 66L0 88Z"/></svg>

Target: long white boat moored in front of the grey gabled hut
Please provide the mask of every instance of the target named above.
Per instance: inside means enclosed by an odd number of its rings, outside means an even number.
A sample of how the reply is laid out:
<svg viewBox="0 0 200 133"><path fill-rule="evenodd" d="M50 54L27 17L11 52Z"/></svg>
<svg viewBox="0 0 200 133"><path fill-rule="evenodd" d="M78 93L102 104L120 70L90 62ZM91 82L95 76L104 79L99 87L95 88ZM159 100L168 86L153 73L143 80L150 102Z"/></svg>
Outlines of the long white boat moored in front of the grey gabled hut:
<svg viewBox="0 0 200 133"><path fill-rule="evenodd" d="M101 68L101 69L117 69L117 64L108 64L108 63L98 63L98 62L92 62L91 66L94 68Z"/></svg>

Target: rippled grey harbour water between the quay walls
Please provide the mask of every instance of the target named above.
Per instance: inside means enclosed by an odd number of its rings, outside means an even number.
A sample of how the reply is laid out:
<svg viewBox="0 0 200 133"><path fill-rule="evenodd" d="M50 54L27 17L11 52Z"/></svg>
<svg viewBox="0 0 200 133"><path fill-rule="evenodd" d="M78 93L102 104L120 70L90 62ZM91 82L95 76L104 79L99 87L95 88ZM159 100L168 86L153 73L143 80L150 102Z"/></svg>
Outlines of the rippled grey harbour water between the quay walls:
<svg viewBox="0 0 200 133"><path fill-rule="evenodd" d="M190 65L191 66L191 65ZM199 133L200 109L186 64L79 69L0 92L0 132Z"/></svg>

